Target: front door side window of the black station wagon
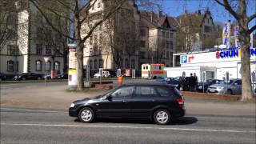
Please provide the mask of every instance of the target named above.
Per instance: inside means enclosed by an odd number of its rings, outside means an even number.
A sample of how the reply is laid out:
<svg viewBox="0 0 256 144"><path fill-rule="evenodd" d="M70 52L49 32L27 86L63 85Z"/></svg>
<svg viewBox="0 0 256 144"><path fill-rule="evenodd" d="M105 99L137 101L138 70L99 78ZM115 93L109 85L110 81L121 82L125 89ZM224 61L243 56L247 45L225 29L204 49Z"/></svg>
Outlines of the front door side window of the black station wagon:
<svg viewBox="0 0 256 144"><path fill-rule="evenodd" d="M113 98L124 98L130 97L134 92L134 86L121 87L118 90L115 90L114 93L111 94Z"/></svg>

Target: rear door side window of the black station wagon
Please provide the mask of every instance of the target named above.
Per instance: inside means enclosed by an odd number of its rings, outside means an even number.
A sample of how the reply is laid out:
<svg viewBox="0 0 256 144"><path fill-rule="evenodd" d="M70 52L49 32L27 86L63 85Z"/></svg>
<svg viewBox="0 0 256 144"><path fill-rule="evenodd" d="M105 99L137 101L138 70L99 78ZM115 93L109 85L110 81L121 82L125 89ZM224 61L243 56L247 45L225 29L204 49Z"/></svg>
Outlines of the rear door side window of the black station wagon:
<svg viewBox="0 0 256 144"><path fill-rule="evenodd" d="M158 96L154 90L154 86L137 86L135 90L135 98L148 98Z"/></svg>

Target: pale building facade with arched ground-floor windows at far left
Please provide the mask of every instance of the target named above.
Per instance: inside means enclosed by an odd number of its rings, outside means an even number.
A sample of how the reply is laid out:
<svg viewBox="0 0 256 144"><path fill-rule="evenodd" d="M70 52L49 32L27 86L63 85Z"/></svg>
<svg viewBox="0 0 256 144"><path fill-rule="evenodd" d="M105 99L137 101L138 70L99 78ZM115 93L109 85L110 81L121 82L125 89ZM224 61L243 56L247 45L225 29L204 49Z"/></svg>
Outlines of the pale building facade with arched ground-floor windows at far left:
<svg viewBox="0 0 256 144"><path fill-rule="evenodd" d="M46 26L45 19L32 3L16 1L14 5L17 9L14 38L8 39L0 49L0 72L45 74L46 71L49 74L50 70L57 70L63 73L64 48L58 43L60 36ZM50 60L45 62L44 57Z"/></svg>

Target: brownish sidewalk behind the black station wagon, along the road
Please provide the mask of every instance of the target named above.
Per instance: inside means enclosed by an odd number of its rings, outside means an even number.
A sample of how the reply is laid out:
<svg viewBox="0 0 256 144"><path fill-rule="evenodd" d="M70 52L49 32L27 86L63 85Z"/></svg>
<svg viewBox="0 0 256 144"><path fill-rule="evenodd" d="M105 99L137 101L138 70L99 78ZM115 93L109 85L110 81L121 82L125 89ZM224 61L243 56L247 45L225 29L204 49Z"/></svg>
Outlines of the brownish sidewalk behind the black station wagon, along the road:
<svg viewBox="0 0 256 144"><path fill-rule="evenodd" d="M107 90L91 89L70 92L67 86L27 86L1 90L1 107L43 110L68 110L75 100L97 96ZM203 98L186 97L187 114L255 116L253 102L219 102Z"/></svg>

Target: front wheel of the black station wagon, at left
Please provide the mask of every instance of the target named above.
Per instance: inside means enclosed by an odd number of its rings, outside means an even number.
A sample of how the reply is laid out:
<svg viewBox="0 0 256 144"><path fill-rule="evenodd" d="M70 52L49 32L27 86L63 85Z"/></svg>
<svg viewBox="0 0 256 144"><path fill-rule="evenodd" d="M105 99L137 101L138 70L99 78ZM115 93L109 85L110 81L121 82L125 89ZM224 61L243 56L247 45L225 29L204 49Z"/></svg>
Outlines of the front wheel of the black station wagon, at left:
<svg viewBox="0 0 256 144"><path fill-rule="evenodd" d="M85 123L93 122L94 117L94 110L91 110L89 107L82 108L78 114L79 120Z"/></svg>

